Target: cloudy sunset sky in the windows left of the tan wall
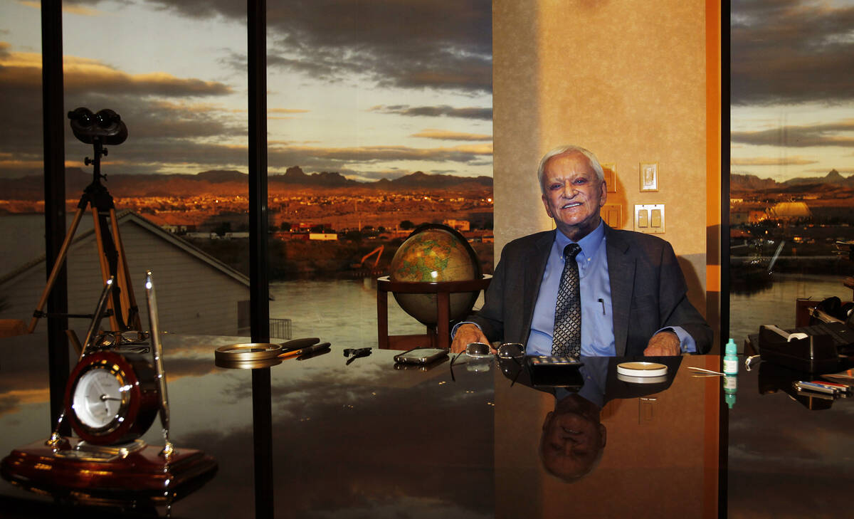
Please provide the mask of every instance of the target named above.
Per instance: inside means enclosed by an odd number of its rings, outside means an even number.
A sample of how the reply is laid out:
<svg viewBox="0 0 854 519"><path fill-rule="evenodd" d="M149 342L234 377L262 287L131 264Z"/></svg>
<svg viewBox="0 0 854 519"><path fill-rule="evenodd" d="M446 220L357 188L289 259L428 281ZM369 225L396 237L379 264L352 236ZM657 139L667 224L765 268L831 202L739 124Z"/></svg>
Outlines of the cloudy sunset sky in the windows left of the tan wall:
<svg viewBox="0 0 854 519"><path fill-rule="evenodd" d="M42 168L39 4L0 6L0 175ZM105 171L246 172L245 3L63 3L66 109L129 130ZM269 0L269 170L492 175L488 0ZM66 128L67 134L70 134ZM91 147L69 135L67 165Z"/></svg>

